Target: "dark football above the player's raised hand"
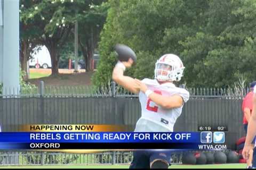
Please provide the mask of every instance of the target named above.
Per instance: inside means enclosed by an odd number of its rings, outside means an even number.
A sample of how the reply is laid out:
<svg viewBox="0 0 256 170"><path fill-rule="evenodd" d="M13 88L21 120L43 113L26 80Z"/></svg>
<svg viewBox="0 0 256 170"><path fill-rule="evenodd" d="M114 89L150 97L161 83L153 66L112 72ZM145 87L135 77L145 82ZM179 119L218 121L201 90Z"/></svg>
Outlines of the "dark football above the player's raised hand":
<svg viewBox="0 0 256 170"><path fill-rule="evenodd" d="M133 52L133 50L123 44L117 44L115 46L115 51L117 53L117 58L119 61L121 62L126 62L129 60L129 58L132 58L133 62L136 62L137 60L137 56L136 54Z"/></svg>

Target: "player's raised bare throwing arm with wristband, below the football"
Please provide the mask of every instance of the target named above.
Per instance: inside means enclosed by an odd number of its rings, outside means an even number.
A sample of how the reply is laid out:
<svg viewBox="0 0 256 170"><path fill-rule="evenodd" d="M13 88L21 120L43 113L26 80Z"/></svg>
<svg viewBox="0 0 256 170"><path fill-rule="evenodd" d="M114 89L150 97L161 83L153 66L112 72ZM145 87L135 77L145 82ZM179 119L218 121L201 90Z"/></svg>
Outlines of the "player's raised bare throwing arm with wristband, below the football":
<svg viewBox="0 0 256 170"><path fill-rule="evenodd" d="M125 89L133 92L134 94L138 94L140 92L140 89L135 83L135 80L131 77L124 75L125 68L131 67L132 64L133 60L131 58L127 62L118 61L116 66L114 67L112 79Z"/></svg>

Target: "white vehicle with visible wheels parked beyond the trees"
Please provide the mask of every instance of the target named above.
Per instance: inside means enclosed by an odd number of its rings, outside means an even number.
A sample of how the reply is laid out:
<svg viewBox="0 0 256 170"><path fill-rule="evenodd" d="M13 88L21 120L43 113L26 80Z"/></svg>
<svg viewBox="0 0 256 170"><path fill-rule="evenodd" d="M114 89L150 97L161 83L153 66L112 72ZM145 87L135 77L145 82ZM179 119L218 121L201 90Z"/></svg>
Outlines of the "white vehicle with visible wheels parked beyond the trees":
<svg viewBox="0 0 256 170"><path fill-rule="evenodd" d="M29 67L35 67L37 69L39 69L39 67L44 69L52 67L48 49L45 46L41 46L40 48L40 50L32 54L32 58L29 60Z"/></svg>

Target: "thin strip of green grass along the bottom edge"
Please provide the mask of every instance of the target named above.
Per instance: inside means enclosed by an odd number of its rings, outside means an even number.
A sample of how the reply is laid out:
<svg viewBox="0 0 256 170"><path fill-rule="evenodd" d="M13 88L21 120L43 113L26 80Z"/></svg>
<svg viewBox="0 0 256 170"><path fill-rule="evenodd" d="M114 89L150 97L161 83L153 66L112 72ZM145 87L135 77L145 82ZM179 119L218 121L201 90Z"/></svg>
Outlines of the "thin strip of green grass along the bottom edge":
<svg viewBox="0 0 256 170"><path fill-rule="evenodd" d="M218 165L172 165L169 167L169 169L175 168L175 169L223 169L223 168L229 168L229 169L244 169L246 167L246 164L218 164ZM115 169L115 168L122 168L127 169L129 168L129 165L45 165L45 166L0 166L0 168L52 168L52 169L69 169L69 168L102 168L102 169Z"/></svg>

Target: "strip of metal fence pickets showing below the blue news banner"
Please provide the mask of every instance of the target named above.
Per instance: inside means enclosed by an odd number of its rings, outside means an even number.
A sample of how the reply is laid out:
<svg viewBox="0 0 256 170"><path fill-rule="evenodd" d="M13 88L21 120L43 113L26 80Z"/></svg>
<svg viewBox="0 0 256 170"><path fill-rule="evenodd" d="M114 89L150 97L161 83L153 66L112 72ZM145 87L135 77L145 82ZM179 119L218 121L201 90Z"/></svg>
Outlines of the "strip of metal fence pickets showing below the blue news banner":
<svg viewBox="0 0 256 170"><path fill-rule="evenodd" d="M130 164L132 151L67 153L38 151L2 151L0 166L6 165L115 165ZM182 153L172 154L172 164L181 164Z"/></svg>

